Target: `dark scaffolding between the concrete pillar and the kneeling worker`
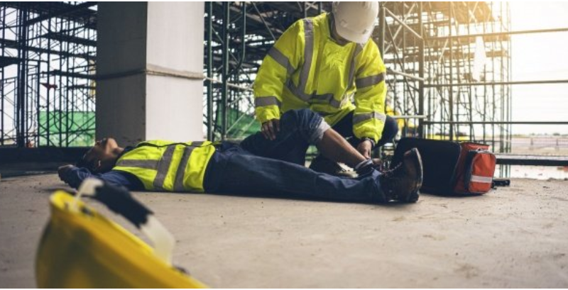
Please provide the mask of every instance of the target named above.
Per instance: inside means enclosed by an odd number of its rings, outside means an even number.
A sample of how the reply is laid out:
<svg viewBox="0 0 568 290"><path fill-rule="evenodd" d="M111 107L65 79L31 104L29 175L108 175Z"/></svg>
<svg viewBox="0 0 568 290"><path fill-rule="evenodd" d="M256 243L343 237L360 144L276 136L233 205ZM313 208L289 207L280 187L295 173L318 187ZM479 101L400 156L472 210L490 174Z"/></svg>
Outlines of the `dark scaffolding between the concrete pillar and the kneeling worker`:
<svg viewBox="0 0 568 290"><path fill-rule="evenodd" d="M256 132L252 84L266 52L292 23L331 9L330 2L207 2L204 126L207 138Z"/></svg>

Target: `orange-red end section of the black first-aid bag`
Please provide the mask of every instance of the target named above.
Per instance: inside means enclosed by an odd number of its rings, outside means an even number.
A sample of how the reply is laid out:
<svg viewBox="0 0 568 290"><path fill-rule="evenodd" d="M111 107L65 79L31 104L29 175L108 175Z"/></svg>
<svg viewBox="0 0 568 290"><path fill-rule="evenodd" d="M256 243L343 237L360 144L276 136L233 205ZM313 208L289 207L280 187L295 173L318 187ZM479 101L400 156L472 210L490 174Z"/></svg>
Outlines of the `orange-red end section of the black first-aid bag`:
<svg viewBox="0 0 568 290"><path fill-rule="evenodd" d="M461 143L454 192L486 194L492 188L496 164L496 157L488 145Z"/></svg>

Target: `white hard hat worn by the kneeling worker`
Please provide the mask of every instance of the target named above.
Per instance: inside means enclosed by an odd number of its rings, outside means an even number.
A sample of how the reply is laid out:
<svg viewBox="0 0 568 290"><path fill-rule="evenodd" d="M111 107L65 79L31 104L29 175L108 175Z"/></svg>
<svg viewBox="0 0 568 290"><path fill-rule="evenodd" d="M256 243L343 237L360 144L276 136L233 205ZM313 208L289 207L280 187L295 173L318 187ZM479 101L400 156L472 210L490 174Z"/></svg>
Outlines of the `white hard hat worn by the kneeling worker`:
<svg viewBox="0 0 568 290"><path fill-rule="evenodd" d="M335 30L342 38L366 43L373 33L378 2L333 2Z"/></svg>

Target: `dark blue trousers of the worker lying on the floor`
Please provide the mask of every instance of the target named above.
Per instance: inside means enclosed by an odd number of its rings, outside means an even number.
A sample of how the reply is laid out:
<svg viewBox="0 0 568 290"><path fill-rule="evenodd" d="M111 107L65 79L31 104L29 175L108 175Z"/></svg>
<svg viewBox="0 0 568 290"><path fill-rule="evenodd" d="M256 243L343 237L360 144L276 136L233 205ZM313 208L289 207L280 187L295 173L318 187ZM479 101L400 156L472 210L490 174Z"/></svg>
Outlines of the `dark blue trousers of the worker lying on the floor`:
<svg viewBox="0 0 568 290"><path fill-rule="evenodd" d="M304 166L310 144L319 142L322 117L291 110L280 118L280 132L267 140L258 132L241 145L222 144L209 161L205 190L220 194L292 194L340 201L385 202L373 172L356 179L334 177Z"/></svg>

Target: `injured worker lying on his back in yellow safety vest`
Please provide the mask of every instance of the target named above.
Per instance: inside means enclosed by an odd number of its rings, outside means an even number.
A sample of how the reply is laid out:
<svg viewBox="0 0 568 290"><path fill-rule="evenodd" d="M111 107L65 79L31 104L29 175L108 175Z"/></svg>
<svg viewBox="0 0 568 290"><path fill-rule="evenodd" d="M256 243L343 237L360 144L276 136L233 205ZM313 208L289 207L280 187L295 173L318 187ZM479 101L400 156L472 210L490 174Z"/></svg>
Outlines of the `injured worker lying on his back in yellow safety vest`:
<svg viewBox="0 0 568 290"><path fill-rule="evenodd" d="M241 145L146 141L123 148L107 138L97 141L77 167L60 167L59 176L75 188L87 177L97 177L135 191L293 194L364 202L418 199L422 162L417 150L408 151L396 169L380 173L317 113L288 111L280 126L274 140L258 132ZM356 168L359 177L334 177L306 168L305 148L310 144L325 157Z"/></svg>

